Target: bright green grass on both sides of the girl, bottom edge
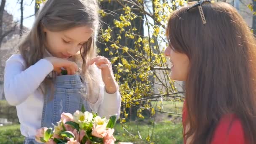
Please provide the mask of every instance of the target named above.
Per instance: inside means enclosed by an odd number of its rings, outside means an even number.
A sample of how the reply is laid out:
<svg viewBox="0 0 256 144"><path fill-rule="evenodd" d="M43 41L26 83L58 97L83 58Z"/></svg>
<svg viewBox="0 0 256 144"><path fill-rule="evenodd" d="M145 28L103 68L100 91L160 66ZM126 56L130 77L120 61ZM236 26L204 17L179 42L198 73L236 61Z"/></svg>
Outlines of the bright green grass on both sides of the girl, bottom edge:
<svg viewBox="0 0 256 144"><path fill-rule="evenodd" d="M117 139L116 144L120 141L133 142L133 144L149 144L147 136L152 135L153 125L145 122L125 123L125 129L133 134L131 136L124 131L121 124L115 126L114 136ZM141 135L139 138L138 131ZM24 137L21 136L19 125L8 125L0 127L0 144L23 144ZM154 144L182 144L182 127L181 124L171 122L156 123L153 131L152 142Z"/></svg>

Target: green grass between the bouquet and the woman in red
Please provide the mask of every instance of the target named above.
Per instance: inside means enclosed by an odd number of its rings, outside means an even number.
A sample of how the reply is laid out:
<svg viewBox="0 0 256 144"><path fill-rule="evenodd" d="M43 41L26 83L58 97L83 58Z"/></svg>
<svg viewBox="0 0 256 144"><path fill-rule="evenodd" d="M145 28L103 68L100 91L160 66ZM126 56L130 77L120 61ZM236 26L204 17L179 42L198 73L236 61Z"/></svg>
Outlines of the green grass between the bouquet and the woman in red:
<svg viewBox="0 0 256 144"><path fill-rule="evenodd" d="M148 125L143 122L130 122L125 123L129 133L126 132L122 125L118 124L115 126L115 138L116 142L133 142L133 144L183 144L182 139L182 126L181 123L173 124L170 121L156 123L154 128L153 125ZM153 135L152 135L153 130ZM141 138L139 137L139 133ZM147 137L152 136L151 142L147 141Z"/></svg>

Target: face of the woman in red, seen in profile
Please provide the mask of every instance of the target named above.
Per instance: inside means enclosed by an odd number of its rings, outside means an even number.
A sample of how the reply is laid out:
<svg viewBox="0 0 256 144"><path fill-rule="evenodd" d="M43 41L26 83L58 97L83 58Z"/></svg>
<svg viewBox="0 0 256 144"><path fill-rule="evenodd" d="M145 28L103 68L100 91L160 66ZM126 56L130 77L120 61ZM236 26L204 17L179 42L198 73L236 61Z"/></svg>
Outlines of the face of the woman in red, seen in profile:
<svg viewBox="0 0 256 144"><path fill-rule="evenodd" d="M189 58L184 53L178 53L170 46L165 49L165 56L170 58L171 79L186 81L189 69Z"/></svg>

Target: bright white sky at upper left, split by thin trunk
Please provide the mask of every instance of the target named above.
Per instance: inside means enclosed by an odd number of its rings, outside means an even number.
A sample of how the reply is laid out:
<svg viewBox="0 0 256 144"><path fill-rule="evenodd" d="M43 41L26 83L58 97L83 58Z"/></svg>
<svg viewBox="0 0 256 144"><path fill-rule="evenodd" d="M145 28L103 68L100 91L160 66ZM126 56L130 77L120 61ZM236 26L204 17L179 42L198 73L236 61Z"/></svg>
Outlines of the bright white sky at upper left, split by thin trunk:
<svg viewBox="0 0 256 144"><path fill-rule="evenodd" d="M21 17L21 11L20 11L20 3L17 2L18 0L6 0L5 3L5 10L8 11L8 13L13 15L13 19L18 21ZM28 16L31 16L35 13L35 0L24 0L23 2L23 25L25 27L31 28L33 25L33 22L35 20L35 16L32 16L30 18L25 19Z"/></svg>

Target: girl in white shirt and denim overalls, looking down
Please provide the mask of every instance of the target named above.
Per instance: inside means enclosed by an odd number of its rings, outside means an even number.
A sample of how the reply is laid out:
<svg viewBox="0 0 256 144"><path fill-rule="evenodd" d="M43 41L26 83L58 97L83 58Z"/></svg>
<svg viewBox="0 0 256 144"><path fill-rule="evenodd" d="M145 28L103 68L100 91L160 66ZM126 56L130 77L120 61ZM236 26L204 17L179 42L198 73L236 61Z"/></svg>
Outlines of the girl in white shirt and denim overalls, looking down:
<svg viewBox="0 0 256 144"><path fill-rule="evenodd" d="M37 129L52 127L62 112L74 113L83 104L100 116L119 115L111 62L96 56L98 10L96 0L48 0L19 45L20 54L6 61L5 97L17 108L24 144L37 144Z"/></svg>

